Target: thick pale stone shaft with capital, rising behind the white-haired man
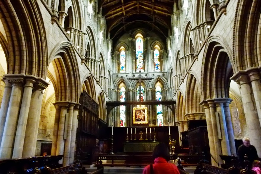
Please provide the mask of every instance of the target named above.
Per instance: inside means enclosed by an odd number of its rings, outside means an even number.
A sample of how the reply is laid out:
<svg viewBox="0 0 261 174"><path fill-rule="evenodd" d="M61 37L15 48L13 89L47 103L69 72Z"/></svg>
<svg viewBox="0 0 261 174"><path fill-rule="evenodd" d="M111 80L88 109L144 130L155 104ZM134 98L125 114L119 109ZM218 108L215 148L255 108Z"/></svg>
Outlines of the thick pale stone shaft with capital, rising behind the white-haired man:
<svg viewBox="0 0 261 174"><path fill-rule="evenodd" d="M260 137L260 120L255 109L254 96L252 91L250 79L246 73L237 73L231 77L235 82L239 83L241 86L241 96L244 107L244 112L246 115L246 125L248 130L248 135L251 144L257 149L258 156L261 156L261 137ZM256 82L254 82L256 83Z"/></svg>

